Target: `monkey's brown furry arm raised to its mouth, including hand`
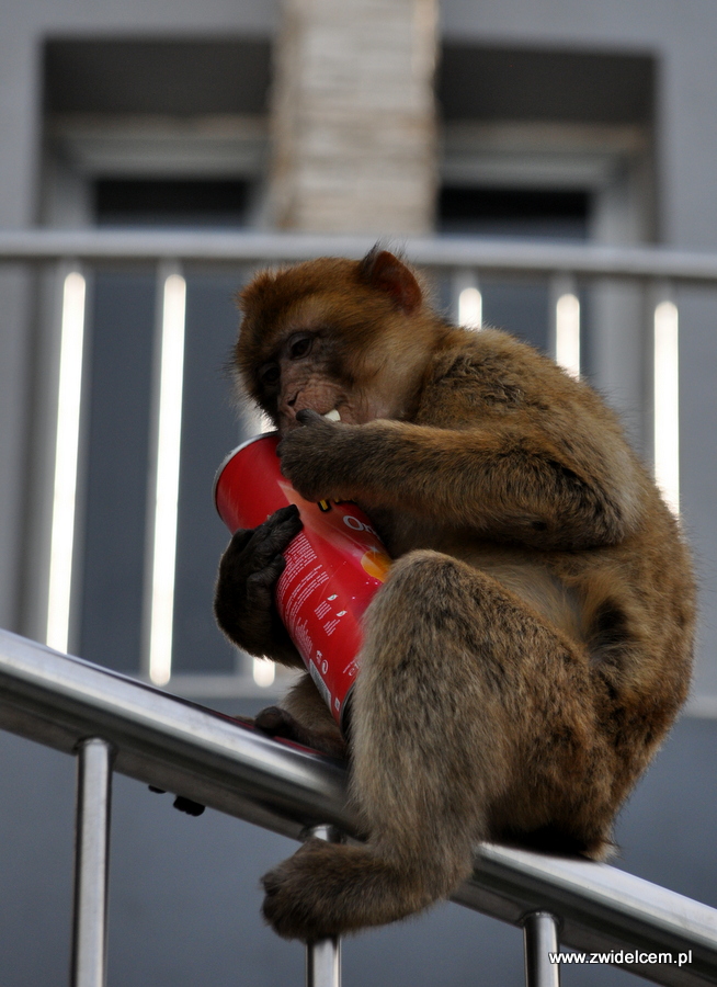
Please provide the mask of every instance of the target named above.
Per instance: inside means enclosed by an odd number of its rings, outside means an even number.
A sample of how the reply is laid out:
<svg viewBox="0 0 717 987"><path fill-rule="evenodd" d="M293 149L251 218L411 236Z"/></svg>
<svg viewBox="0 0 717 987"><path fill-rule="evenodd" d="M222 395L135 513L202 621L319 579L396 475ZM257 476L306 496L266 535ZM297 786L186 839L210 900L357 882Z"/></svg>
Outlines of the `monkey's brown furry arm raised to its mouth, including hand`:
<svg viewBox="0 0 717 987"><path fill-rule="evenodd" d="M639 522L639 470L622 441L558 441L527 415L466 429L297 418L278 453L309 500L403 508L543 549L616 544Z"/></svg>

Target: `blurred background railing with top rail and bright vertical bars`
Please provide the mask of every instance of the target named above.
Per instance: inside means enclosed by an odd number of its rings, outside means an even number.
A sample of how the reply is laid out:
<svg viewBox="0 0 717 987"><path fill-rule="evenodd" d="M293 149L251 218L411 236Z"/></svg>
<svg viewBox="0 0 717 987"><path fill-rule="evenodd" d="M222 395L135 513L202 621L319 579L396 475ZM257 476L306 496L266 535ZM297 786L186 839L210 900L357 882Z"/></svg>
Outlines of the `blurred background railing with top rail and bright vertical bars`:
<svg viewBox="0 0 717 987"><path fill-rule="evenodd" d="M174 676L171 668L173 570L170 549L177 531L177 496L179 477L179 429L181 419L181 375L183 361L184 268L191 264L223 264L247 269L274 262L293 262L322 254L361 257L373 246L368 237L327 237L273 232L224 231L148 231L148 230L16 230L0 231L0 264L21 263L46 269L57 266L62 285L62 300L57 319L57 366L49 373L52 390L57 388L55 435L43 441L56 442L55 475L47 486L45 503L53 504L48 522L50 557L35 585L49 587L47 613L33 624L44 621L46 631L37 626L33 635L65 651L69 647L71 617L70 587L72 583L72 532L76 530L76 497L78 478L78 446L82 434L83 409L80 407L83 330L83 270L127 261L153 263L157 268L162 299L158 313L157 347L161 366L155 367L152 405L156 409L155 475L149 487L156 496L157 510L149 552L161 566L151 564L146 580L146 620L143 672L155 684L166 684L184 695L249 695L262 689L246 676ZM398 243L408 259L448 285L449 305L464 324L481 322L480 285L482 279L496 276L539 277L549 285L550 329L549 349L558 362L572 373L581 371L581 321L579 286L595 285L598 292L610 292L608 285L634 286L641 296L640 325L621 326L623 336L638 340L638 363L627 371L628 388L640 390L628 409L631 419L639 418L642 430L641 452L655 464L656 477L668 501L679 510L679 313L675 291L680 287L717 287L717 256L670 251L661 248L618 248L580 243L531 243L486 241L475 238L411 239ZM445 300L445 299L444 299ZM608 309L605 309L608 310ZM614 307L613 307L614 313ZM600 321L600 320L598 320ZM608 319L603 318L603 322ZM608 325L593 325L595 339L610 331ZM625 367L629 363L615 351L614 344L603 348L607 354L607 371L599 386L606 393L615 378L623 388ZM605 362L605 361L603 361ZM635 363L635 360L633 360ZM178 385L178 382L179 385ZM48 418L52 417L48 416ZM49 428L49 424L48 424ZM86 428L87 433L87 428ZM49 489L52 486L52 489ZM49 508L48 508L49 510ZM153 538L153 541L152 541ZM168 548L167 546L170 546ZM164 601L163 603L161 601ZM39 604L39 609L44 603ZM715 701L709 700L713 705ZM708 702L708 705L709 705ZM703 702L704 705L704 702Z"/></svg>

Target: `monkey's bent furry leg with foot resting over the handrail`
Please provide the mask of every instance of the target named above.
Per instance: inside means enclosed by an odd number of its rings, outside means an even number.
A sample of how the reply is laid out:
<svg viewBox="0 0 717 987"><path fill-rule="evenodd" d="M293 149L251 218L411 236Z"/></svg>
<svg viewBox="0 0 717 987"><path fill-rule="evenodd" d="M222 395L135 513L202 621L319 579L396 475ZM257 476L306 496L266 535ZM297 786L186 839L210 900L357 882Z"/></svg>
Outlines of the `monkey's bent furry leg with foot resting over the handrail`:
<svg viewBox="0 0 717 987"><path fill-rule="evenodd" d="M382 924L446 897L505 806L533 830L570 816L587 784L600 797L587 661L496 580L411 553L365 632L352 785L369 839L310 840L264 877L264 916L287 938Z"/></svg>

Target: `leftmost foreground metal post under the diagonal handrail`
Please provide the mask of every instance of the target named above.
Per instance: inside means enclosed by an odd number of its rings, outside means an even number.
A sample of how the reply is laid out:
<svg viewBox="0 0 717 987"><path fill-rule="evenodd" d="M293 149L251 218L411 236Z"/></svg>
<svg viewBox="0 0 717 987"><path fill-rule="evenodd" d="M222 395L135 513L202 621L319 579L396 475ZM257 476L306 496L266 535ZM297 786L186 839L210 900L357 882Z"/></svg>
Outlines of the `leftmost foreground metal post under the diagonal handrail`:
<svg viewBox="0 0 717 987"><path fill-rule="evenodd" d="M78 746L72 987L105 982L112 753L99 737Z"/></svg>

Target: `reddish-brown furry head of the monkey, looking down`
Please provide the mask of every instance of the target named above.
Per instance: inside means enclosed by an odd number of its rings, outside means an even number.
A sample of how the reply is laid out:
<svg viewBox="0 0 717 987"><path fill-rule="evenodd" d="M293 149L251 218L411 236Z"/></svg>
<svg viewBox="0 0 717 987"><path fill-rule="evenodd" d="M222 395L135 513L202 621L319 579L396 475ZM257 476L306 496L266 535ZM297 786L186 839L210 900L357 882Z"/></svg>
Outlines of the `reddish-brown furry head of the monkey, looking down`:
<svg viewBox="0 0 717 987"><path fill-rule="evenodd" d="M323 258L260 274L241 293L237 368L280 433L307 408L351 424L402 417L428 352L421 294L392 254L378 258L390 259L392 280L384 263L376 283L376 258L373 268ZM414 290L408 302L396 298L403 282Z"/></svg>

